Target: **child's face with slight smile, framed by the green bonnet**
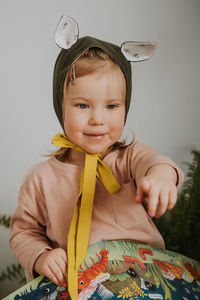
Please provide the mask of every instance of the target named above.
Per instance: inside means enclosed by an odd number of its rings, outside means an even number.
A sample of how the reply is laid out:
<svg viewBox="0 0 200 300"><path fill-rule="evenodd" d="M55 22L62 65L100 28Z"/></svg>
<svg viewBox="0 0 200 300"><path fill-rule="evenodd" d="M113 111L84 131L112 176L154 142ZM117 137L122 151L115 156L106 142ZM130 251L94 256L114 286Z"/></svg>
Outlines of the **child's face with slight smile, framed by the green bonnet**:
<svg viewBox="0 0 200 300"><path fill-rule="evenodd" d="M68 138L89 153L101 153L122 135L125 79L121 70L106 69L69 83L63 99Z"/></svg>

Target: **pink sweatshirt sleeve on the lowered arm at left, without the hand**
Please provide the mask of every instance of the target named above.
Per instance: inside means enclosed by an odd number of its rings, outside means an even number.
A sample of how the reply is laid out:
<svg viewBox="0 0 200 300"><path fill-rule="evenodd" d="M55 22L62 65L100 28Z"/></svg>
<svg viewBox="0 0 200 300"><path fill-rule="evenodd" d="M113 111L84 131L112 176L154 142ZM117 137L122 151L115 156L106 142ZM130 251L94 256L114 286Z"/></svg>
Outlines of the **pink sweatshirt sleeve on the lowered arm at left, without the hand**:
<svg viewBox="0 0 200 300"><path fill-rule="evenodd" d="M10 247L32 277L38 256L52 249L46 236L46 209L40 186L39 177L33 171L29 172L21 185L10 226Z"/></svg>

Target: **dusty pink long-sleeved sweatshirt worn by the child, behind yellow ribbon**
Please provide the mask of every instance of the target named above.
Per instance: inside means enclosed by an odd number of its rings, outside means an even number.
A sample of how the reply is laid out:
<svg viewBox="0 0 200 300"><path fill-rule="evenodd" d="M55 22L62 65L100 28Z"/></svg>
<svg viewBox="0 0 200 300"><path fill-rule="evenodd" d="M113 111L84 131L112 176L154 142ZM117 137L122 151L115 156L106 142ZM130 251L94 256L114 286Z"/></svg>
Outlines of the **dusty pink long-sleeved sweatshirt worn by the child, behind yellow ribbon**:
<svg viewBox="0 0 200 300"><path fill-rule="evenodd" d="M121 189L110 195L97 179L89 245L100 240L134 240L164 248L164 241L142 204L134 202L138 180L158 163L175 168L177 188L183 173L169 158L133 142L104 155ZM36 259L52 248L67 249L67 236L79 193L81 167L50 158L25 176L11 219L10 246L33 276Z"/></svg>

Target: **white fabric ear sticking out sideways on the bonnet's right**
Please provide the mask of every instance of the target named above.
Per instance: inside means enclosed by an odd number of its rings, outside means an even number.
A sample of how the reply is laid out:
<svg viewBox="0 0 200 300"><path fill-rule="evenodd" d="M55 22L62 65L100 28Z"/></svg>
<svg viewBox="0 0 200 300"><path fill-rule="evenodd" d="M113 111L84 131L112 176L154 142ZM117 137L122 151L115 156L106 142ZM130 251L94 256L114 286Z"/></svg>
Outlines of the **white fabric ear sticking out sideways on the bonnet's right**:
<svg viewBox="0 0 200 300"><path fill-rule="evenodd" d="M156 48L156 44L149 42L125 42L121 51L128 61L138 62L149 59Z"/></svg>

